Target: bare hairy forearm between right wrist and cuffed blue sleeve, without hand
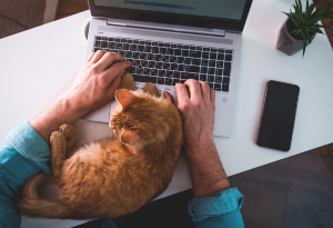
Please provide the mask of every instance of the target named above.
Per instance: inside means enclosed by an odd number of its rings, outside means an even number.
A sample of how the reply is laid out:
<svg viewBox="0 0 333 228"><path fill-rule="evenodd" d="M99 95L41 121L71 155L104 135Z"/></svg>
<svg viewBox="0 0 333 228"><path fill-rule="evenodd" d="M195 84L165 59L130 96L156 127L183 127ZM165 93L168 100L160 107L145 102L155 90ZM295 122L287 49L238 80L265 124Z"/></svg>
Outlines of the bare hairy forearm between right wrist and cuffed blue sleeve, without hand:
<svg viewBox="0 0 333 228"><path fill-rule="evenodd" d="M186 153L195 197L212 197L231 187L213 139L201 147L186 147Z"/></svg>

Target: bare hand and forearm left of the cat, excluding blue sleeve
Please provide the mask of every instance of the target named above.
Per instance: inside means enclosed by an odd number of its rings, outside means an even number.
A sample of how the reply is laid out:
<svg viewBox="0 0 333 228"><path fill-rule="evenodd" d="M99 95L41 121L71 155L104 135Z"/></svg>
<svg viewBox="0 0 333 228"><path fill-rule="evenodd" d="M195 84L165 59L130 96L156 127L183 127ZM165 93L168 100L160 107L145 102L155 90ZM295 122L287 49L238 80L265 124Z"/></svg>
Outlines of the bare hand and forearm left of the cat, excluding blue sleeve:
<svg viewBox="0 0 333 228"><path fill-rule="evenodd" d="M63 123L74 123L89 111L110 101L121 76L131 62L120 53L98 51L90 54L71 89L29 123L47 141Z"/></svg>

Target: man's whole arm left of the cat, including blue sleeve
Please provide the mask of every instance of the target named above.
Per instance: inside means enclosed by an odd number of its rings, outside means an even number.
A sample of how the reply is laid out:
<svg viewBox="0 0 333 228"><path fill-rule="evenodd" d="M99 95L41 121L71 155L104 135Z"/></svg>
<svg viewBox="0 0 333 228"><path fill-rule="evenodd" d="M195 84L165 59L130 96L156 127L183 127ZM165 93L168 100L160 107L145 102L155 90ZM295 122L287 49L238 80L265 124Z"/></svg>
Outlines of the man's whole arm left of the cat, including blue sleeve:
<svg viewBox="0 0 333 228"><path fill-rule="evenodd" d="M51 132L111 100L130 65L119 53L92 53L69 92L30 123L20 125L7 136L0 148L0 227L20 226L21 217L13 201L20 197L22 186L37 172L51 172L48 145Z"/></svg>

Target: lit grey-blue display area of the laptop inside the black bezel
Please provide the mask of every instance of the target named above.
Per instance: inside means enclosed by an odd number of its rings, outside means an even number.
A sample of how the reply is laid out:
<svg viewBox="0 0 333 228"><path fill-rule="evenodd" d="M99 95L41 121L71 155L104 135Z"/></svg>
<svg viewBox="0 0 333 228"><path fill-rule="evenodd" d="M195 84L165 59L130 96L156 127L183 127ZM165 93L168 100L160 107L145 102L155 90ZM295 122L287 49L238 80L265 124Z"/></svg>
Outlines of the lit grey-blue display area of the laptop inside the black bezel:
<svg viewBox="0 0 333 228"><path fill-rule="evenodd" d="M115 7L241 20L246 0L94 0L99 7Z"/></svg>

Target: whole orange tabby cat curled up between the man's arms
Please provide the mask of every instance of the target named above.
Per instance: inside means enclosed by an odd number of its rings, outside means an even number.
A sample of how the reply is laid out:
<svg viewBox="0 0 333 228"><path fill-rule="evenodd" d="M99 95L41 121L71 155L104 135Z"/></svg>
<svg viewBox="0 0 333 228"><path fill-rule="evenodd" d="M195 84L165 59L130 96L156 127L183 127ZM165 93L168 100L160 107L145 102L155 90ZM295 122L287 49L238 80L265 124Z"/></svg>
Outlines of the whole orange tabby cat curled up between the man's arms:
<svg viewBox="0 0 333 228"><path fill-rule="evenodd" d="M113 139L72 149L77 131L62 125L51 133L53 177L38 174L24 185L17 204L29 217L117 218L139 210L163 192L178 166L183 129L178 109L147 83L133 91L131 75L115 91L119 105L110 126ZM37 187L59 185L59 199L40 198Z"/></svg>

